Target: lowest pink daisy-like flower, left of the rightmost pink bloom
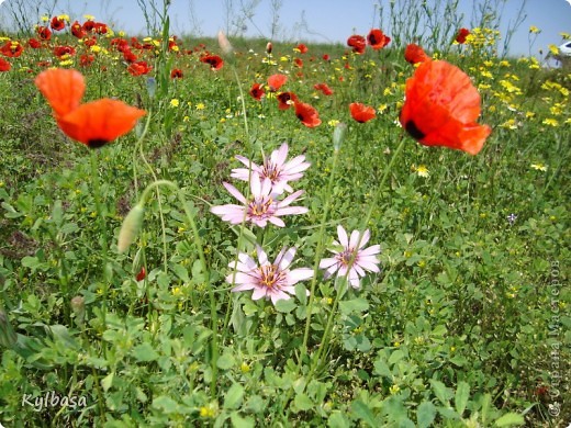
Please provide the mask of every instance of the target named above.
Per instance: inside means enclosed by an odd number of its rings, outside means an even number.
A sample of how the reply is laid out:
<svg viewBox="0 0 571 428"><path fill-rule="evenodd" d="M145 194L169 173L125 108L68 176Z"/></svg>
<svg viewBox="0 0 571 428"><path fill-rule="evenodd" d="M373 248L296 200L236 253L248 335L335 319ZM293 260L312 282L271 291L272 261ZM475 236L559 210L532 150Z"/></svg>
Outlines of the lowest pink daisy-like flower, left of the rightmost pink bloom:
<svg viewBox="0 0 571 428"><path fill-rule="evenodd" d="M226 277L226 282L236 285L233 292L254 290L251 299L270 299L272 304L279 300L289 300L295 294L295 284L313 277L313 269L288 269L295 256L295 248L283 247L273 263L262 248L257 245L258 262L245 252L238 254L238 260L232 261L228 267L234 269Z"/></svg>

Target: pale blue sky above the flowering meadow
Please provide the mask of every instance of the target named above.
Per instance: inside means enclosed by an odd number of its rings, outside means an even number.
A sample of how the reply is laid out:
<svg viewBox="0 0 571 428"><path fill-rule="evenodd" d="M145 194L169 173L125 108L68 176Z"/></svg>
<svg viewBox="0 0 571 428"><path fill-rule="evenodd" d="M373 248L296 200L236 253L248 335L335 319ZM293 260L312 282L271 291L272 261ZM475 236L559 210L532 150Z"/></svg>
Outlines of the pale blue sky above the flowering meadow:
<svg viewBox="0 0 571 428"><path fill-rule="evenodd" d="M2 0L0 0L2 1ZM10 0L4 1L5 3ZM276 1L276 0L275 0ZM400 0L396 0L399 2ZM414 1L414 0L404 0ZM421 0L418 0L421 1ZM435 0L428 0L428 3ZM515 19L516 11L523 0L506 0L502 10L502 26L505 32L507 23ZM161 0L155 0L161 4ZM250 3L251 0L172 0L170 7L172 33L200 33L214 36L219 30L225 30L227 23L227 4ZM366 35L371 25L379 26L378 4L388 8L389 0L278 0L280 34L293 42L299 40L345 43L351 34ZM440 2L443 2L440 0ZM533 55L541 48L547 52L549 44L562 43L560 32L571 33L571 0L527 0L525 3L526 20L518 27L510 45L512 55L529 54L529 26L541 30L535 44ZM247 35L271 35L272 0L260 0L255 9L253 22L246 22ZM460 0L460 12L464 13L463 26L470 27L470 16L474 4L481 1ZM145 34L145 19L137 0L83 0L59 1L60 13L96 15L98 20L113 22L114 30L124 30L130 34ZM65 9L65 8L72 8ZM56 11L57 12L57 11ZM311 33L300 30L302 12L306 27ZM256 29L257 27L257 29ZM390 33L389 33L390 35Z"/></svg>

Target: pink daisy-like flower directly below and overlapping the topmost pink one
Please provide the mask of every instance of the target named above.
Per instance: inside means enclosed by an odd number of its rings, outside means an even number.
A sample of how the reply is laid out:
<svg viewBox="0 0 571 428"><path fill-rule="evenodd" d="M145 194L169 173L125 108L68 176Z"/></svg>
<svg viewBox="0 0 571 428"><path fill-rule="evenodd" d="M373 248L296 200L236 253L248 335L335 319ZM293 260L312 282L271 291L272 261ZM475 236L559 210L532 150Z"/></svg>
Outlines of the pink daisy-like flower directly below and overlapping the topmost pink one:
<svg viewBox="0 0 571 428"><path fill-rule="evenodd" d="M257 172L251 173L251 196L249 201L234 185L223 184L234 198L243 203L243 205L226 204L210 209L211 213L220 215L224 222L239 224L246 218L247 222L251 222L259 227L266 227L268 222L278 227L283 227L286 223L279 218L280 216L304 214L309 211L305 206L288 206L303 193L303 190L298 190L283 200L277 201L277 194L272 193L270 179L260 180Z"/></svg>

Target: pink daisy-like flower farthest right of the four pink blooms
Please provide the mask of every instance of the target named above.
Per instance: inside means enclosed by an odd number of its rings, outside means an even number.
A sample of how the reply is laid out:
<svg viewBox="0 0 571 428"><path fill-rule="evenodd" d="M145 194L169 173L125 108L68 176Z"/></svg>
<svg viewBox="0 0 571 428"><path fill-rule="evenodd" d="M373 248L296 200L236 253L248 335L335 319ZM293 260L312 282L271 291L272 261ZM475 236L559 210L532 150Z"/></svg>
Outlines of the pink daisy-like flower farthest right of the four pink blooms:
<svg viewBox="0 0 571 428"><path fill-rule="evenodd" d="M369 248L363 248L371 237L368 229L365 230L360 243L359 230L352 230L351 236L348 238L347 232L345 232L343 226L337 226L337 235L339 237L339 243L334 240L333 244L337 247L343 247L343 249L331 250L335 254L335 257L320 261L320 268L325 269L325 279L329 278L335 272L337 272L337 277L343 278L347 274L347 270L349 270L347 277L349 283L354 289L359 289L360 278L366 275L366 271L380 272L380 269L377 266L380 260L376 255L381 252L381 246L373 245ZM358 247L357 244L359 245ZM351 264L352 258L354 261Z"/></svg>

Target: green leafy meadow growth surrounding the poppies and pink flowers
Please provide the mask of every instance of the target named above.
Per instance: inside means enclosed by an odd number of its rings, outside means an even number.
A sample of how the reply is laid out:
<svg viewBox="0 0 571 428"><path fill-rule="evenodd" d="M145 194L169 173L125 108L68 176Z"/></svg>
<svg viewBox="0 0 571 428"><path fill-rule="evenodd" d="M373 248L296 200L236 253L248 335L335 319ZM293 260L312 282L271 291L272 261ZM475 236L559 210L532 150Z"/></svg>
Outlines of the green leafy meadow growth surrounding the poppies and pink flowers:
<svg viewBox="0 0 571 428"><path fill-rule="evenodd" d="M211 40L180 44L186 50L201 42L219 50ZM217 72L198 53L145 54L157 79L152 95L147 76L126 72L101 38L109 55L97 54L81 69L85 100L116 97L145 109L150 120L141 151L146 117L92 153L58 131L33 85L48 49L26 49L0 74L7 100L0 117L0 421L564 426L571 401L558 375L568 370L570 343L570 75L454 46L445 59L480 86L480 123L493 127L471 157L423 147L396 125L413 74L402 49L356 56L344 46L309 44L301 55L275 44L268 63L265 41L232 42L235 57ZM182 69L183 79L161 79L172 68ZM254 82L275 72L290 76L282 90L317 109L318 127L304 127L275 99L248 95ZM318 93L318 82L335 93ZM348 110L355 101L382 113L359 124ZM347 124L336 165L335 121ZM379 188L401 138L403 151ZM312 162L292 183L305 190L307 214L287 217L284 228L240 233L209 212L231 203L222 182L234 182L235 155L260 162L261 151L283 142ZM428 177L418 174L419 166ZM122 221L155 178L181 192L153 191L139 236L119 254ZM206 271L183 204L195 219ZM228 263L254 248L245 235L264 243L270 258L295 246L295 266L312 267L338 224L369 228L371 244L381 245L382 271L366 277L360 290L338 294L320 272L311 308L303 285L276 307L249 292L229 292ZM142 266L147 277L137 282ZM85 397L85 406L36 412L23 403L24 394L34 402L52 392Z"/></svg>

